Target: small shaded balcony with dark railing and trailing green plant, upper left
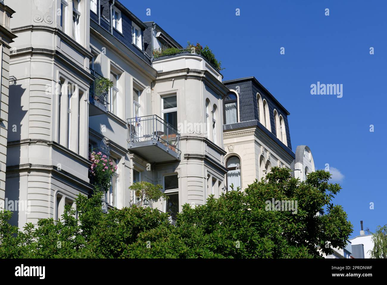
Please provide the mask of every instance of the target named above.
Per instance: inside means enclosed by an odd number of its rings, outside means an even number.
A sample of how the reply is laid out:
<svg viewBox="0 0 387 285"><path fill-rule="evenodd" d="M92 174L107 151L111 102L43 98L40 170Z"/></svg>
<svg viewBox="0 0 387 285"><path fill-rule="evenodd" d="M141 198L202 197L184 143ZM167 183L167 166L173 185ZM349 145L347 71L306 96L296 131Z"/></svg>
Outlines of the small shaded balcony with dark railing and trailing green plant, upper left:
<svg viewBox="0 0 387 285"><path fill-rule="evenodd" d="M99 115L108 111L108 98L109 92L104 90L101 80L103 76L90 69L91 75L94 77L94 81L90 85L89 101L90 105L93 106L89 110L89 115Z"/></svg>

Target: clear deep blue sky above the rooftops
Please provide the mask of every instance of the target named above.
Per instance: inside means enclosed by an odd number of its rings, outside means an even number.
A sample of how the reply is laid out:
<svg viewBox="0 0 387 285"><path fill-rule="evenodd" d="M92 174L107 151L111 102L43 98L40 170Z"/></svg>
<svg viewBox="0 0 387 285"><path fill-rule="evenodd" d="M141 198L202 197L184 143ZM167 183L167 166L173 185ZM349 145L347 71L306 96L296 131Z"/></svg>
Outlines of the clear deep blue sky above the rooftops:
<svg viewBox="0 0 387 285"><path fill-rule="evenodd" d="M293 151L306 144L317 169L329 164L343 188L334 203L347 212L353 237L360 220L371 231L387 223L387 1L121 2L183 46L208 45L224 80L255 76L288 109ZM317 81L342 84L342 98L311 95Z"/></svg>

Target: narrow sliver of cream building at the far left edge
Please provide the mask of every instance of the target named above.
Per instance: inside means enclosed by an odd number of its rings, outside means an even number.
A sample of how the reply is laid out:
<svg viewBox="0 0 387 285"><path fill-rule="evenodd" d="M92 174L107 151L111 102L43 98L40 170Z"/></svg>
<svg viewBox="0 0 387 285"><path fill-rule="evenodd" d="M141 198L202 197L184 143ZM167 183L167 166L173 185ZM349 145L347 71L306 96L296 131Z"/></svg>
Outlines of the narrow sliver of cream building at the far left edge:
<svg viewBox="0 0 387 285"><path fill-rule="evenodd" d="M3 1L0 1L0 209L6 208L5 201L5 169L7 164L8 129L15 130L18 126L9 125L9 56L13 52L10 43L16 37L11 32L10 21L15 13ZM8 207L7 207L8 208Z"/></svg>

